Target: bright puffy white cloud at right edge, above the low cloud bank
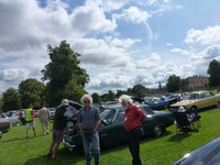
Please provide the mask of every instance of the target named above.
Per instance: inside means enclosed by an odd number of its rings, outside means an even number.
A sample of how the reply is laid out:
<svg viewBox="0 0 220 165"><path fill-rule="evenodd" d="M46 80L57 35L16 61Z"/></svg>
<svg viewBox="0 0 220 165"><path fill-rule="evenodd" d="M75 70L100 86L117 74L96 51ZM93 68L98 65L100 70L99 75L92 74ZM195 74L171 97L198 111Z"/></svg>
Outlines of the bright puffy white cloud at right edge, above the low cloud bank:
<svg viewBox="0 0 220 165"><path fill-rule="evenodd" d="M202 45L211 45L220 42L220 26L209 26L205 30L190 29L185 38L187 44L199 43Z"/></svg>

